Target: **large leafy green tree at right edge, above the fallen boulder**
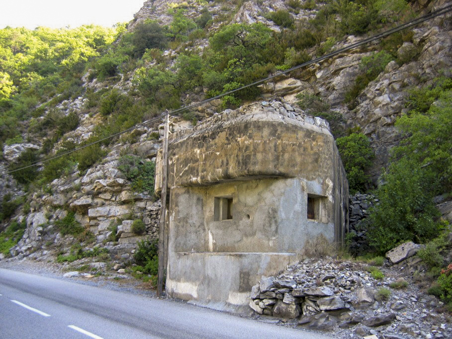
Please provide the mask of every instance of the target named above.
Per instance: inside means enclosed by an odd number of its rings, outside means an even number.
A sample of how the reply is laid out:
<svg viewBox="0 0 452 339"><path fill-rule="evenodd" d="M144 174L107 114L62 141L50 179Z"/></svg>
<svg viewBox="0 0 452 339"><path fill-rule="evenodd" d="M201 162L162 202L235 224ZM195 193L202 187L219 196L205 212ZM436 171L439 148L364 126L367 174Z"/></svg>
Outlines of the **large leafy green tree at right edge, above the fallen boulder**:
<svg viewBox="0 0 452 339"><path fill-rule="evenodd" d="M379 205L370 214L371 245L384 252L401 241L425 242L443 227L433 197L452 188L452 90L441 80L417 92L409 114L397 120L405 135L392 152L392 164L376 195ZM425 112L426 97L437 100ZM417 103L417 104L416 104Z"/></svg>

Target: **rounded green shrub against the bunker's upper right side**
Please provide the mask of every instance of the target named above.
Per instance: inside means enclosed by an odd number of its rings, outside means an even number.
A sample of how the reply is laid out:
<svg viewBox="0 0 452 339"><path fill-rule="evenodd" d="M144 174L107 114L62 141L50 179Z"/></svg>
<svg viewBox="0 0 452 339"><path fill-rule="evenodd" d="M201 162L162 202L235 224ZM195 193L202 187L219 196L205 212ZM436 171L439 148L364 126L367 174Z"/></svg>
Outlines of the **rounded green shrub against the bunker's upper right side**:
<svg viewBox="0 0 452 339"><path fill-rule="evenodd" d="M374 158L369 140L362 133L352 133L336 139L336 145L347 172L350 192L365 191L370 181L365 170L372 165Z"/></svg>

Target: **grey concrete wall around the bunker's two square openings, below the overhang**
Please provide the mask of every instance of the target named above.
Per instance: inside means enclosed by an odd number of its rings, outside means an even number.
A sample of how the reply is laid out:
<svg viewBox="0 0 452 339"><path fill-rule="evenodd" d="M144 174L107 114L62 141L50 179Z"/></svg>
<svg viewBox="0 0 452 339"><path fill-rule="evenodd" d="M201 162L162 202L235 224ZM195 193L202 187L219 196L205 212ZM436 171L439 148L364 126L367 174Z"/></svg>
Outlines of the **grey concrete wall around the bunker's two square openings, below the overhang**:
<svg viewBox="0 0 452 339"><path fill-rule="evenodd" d="M175 187L170 251L299 253L320 234L334 241L333 202L324 199L323 222L307 219L306 186L299 178L271 178ZM214 198L225 195L233 198L233 219L214 221Z"/></svg>

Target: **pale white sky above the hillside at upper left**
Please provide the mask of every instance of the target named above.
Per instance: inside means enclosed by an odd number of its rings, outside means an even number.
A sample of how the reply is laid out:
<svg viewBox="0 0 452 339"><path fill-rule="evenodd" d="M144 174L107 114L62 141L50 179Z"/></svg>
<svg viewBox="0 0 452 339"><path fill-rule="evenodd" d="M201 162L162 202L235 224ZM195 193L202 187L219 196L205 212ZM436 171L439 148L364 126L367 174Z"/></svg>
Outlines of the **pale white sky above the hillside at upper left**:
<svg viewBox="0 0 452 339"><path fill-rule="evenodd" d="M145 0L0 0L0 28L111 27L130 21Z"/></svg>

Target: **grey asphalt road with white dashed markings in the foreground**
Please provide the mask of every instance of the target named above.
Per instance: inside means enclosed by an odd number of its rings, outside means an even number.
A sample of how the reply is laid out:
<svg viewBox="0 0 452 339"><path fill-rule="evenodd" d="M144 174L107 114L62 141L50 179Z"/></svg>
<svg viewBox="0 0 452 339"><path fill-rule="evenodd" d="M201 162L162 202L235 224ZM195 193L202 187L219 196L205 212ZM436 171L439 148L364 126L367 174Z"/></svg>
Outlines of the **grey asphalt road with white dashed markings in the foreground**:
<svg viewBox="0 0 452 339"><path fill-rule="evenodd" d="M0 338L331 338L171 300L0 269Z"/></svg>

